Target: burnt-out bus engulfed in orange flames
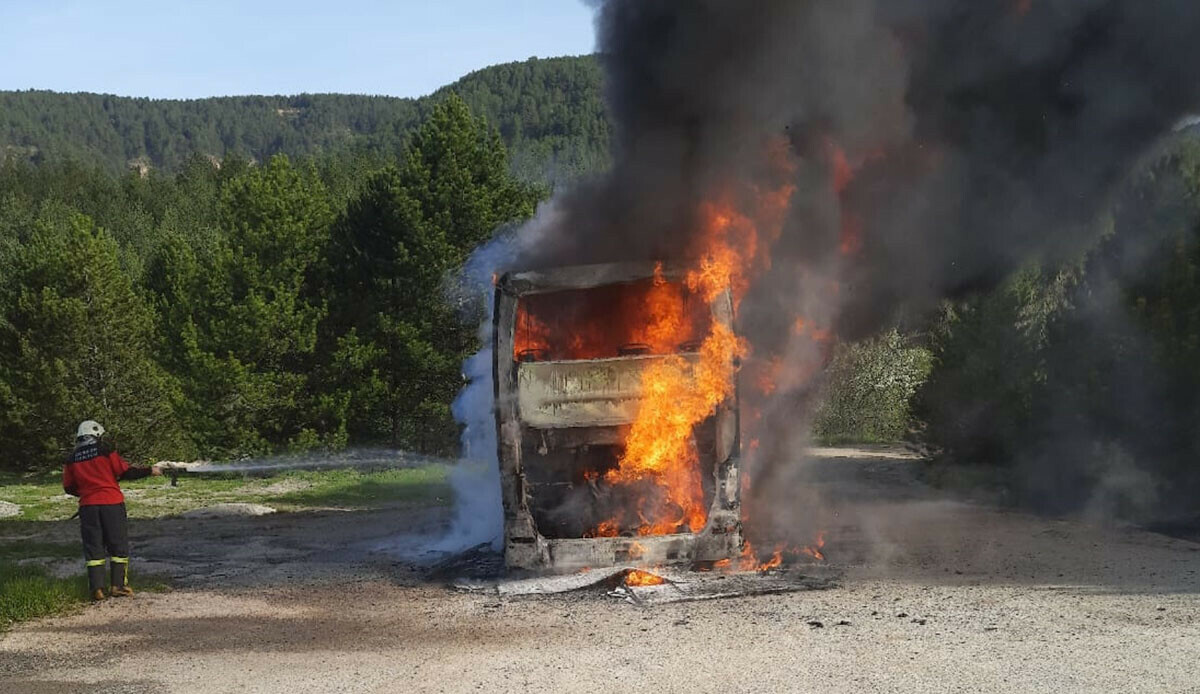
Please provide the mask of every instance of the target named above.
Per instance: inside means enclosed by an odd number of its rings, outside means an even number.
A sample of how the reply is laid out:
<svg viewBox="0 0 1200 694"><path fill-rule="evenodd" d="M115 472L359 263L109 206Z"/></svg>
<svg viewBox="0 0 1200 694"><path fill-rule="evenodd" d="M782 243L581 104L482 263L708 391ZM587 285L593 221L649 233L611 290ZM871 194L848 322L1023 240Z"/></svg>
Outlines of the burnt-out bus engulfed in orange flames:
<svg viewBox="0 0 1200 694"><path fill-rule="evenodd" d="M510 568L742 551L728 286L666 263L509 273L494 294Z"/></svg>

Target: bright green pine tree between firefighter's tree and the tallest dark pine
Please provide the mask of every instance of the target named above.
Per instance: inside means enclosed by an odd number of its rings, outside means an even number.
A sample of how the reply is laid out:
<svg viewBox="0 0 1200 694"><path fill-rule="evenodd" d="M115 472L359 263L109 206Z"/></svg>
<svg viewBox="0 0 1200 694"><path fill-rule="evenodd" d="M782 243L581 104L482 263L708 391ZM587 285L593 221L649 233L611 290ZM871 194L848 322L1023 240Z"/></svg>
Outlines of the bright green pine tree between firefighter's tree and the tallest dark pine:
<svg viewBox="0 0 1200 694"><path fill-rule="evenodd" d="M210 455L336 443L341 421L322 425L329 403L310 388L325 305L306 287L332 217L324 186L272 157L228 180L218 217L215 238L172 235L150 282L192 435Z"/></svg>

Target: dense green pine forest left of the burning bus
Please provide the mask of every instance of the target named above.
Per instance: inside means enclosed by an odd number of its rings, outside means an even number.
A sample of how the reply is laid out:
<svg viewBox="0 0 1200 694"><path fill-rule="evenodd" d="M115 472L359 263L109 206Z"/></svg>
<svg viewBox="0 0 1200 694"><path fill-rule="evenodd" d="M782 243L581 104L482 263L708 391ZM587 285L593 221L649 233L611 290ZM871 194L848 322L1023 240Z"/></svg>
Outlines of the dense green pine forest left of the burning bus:
<svg viewBox="0 0 1200 694"><path fill-rule="evenodd" d="M544 190L452 95L391 160L194 155L173 175L114 175L10 158L5 465L56 465L84 418L137 460L451 450L484 297L449 301L443 280Z"/></svg>

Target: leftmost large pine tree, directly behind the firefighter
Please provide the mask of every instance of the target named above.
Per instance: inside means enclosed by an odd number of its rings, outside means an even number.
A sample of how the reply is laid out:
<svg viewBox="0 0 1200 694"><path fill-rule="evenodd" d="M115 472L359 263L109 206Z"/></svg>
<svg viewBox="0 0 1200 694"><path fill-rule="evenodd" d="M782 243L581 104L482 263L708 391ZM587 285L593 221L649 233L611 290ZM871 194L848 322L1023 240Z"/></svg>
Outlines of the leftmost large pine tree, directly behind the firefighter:
<svg viewBox="0 0 1200 694"><path fill-rule="evenodd" d="M60 465L96 419L138 460L188 453L178 384L151 353L154 319L90 219L40 220L0 288L0 438L17 466Z"/></svg>

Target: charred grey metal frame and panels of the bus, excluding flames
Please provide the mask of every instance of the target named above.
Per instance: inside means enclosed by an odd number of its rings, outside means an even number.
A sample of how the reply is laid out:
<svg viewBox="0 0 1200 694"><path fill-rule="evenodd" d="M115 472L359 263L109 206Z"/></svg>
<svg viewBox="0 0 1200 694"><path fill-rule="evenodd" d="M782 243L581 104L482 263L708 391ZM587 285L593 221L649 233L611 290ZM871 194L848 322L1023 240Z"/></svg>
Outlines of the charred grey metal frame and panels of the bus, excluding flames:
<svg viewBox="0 0 1200 694"><path fill-rule="evenodd" d="M504 552L510 568L556 573L629 562L703 563L733 558L742 551L736 389L696 427L696 437L704 438L697 449L709 501L702 530L665 536L552 537L539 528L538 502L550 491L548 486L539 486L536 466L550 460L551 451L620 445L641 401L640 375L664 357L518 360L515 334L521 300L534 294L642 282L655 277L656 271L668 281L684 279L683 269L670 264L620 263L509 273L497 280L493 378ZM714 322L733 328L728 291L710 301L708 309ZM698 359L695 352L682 355L692 363Z"/></svg>

